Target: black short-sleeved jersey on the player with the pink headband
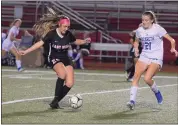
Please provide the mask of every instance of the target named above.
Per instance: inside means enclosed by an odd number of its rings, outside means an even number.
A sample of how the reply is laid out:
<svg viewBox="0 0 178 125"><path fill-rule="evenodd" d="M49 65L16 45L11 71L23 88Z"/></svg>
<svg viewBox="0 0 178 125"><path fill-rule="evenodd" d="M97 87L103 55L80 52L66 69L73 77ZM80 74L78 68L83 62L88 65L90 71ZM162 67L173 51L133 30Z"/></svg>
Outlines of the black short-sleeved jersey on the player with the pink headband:
<svg viewBox="0 0 178 125"><path fill-rule="evenodd" d="M76 41L76 38L70 31L67 31L61 38L56 30L50 31L42 39L44 51L48 52L48 58L66 58L68 57L68 48L71 43Z"/></svg>

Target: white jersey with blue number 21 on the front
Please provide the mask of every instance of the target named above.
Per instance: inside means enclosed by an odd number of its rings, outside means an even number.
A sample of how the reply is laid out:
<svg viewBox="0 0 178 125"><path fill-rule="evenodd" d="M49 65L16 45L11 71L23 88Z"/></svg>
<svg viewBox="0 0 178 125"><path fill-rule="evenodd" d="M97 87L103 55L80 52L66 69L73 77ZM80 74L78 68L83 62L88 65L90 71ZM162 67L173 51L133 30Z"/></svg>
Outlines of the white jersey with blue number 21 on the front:
<svg viewBox="0 0 178 125"><path fill-rule="evenodd" d="M136 37L142 43L141 56L150 59L163 60L163 36L166 30L158 24L153 24L150 29L139 27L136 30Z"/></svg>

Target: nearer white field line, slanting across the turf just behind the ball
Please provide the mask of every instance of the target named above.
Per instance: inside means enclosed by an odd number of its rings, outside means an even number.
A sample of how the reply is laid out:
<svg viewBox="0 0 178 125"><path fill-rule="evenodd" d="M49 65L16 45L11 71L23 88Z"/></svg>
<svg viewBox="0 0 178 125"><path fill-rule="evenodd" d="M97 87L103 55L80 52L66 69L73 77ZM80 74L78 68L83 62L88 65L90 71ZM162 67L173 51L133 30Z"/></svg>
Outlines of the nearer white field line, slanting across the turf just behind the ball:
<svg viewBox="0 0 178 125"><path fill-rule="evenodd" d="M178 84L172 84L172 85L163 85L163 86L158 86L158 87L172 87L172 86L177 86ZM150 87L140 87L139 89L149 89ZM124 92L124 91L129 91L129 89L119 89L119 90L107 90L107 91L98 91L98 92L89 92L89 93L79 93L82 96L84 95L95 95L95 94L107 94L107 93L116 93L116 92ZM71 95L68 95L71 96ZM7 101L7 102L2 102L2 105L7 105L7 104L14 104L14 103L19 103L19 102L27 102L27 101L35 101L35 100L43 100L43 99L51 99L53 96L50 97L39 97L39 98L31 98L31 99L20 99L20 100L13 100L13 101Z"/></svg>

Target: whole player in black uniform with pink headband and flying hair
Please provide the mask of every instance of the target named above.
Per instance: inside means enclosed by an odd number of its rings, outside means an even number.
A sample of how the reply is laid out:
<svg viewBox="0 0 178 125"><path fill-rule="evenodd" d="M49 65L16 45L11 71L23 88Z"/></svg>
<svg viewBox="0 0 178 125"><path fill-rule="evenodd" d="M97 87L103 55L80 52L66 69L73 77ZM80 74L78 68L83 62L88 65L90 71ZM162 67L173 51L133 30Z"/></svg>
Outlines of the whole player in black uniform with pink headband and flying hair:
<svg viewBox="0 0 178 125"><path fill-rule="evenodd" d="M74 71L67 54L69 46L71 44L82 45L91 41L90 38L86 38L85 40L76 39L68 30L69 27L70 19L64 15L54 18L48 18L48 15L44 16L34 26L36 32L40 32L39 34L44 37L29 49L19 51L21 55L26 55L44 46L44 51L48 52L48 62L58 77L55 97L50 103L52 109L59 108L58 102L67 95L74 84ZM44 32L47 32L46 35L44 35Z"/></svg>

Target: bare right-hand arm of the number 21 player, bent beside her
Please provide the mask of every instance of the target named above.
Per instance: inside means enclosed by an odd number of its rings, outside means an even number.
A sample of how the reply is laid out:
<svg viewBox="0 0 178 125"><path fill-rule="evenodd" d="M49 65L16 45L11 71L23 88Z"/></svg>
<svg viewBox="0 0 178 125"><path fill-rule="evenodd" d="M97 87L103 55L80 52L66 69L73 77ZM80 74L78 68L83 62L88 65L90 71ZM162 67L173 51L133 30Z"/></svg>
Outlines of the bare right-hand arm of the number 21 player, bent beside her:
<svg viewBox="0 0 178 125"><path fill-rule="evenodd" d="M178 57L178 52L176 50L176 41L169 34L165 34L163 37L171 42L171 50L170 51L171 51L171 53L174 53L176 57Z"/></svg>

